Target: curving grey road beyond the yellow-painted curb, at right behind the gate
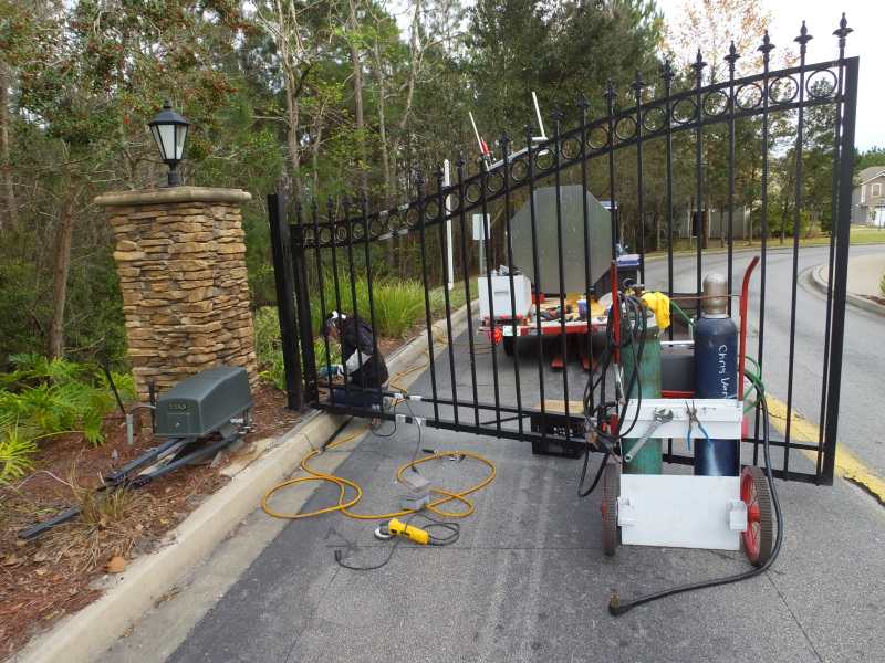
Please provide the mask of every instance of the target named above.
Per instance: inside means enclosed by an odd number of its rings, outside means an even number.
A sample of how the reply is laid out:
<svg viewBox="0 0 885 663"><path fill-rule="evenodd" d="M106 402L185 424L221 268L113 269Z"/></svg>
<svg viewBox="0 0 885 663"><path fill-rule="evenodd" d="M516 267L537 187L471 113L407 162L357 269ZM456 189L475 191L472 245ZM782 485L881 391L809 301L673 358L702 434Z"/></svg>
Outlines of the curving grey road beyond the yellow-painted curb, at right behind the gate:
<svg viewBox="0 0 885 663"><path fill-rule="evenodd" d="M885 245L853 246L851 256L885 253ZM823 380L823 347L826 323L826 297L810 281L812 267L827 261L829 249L808 248L799 254L796 288L796 335L793 367L792 404L815 425L820 418ZM735 254L735 280L739 287L752 253ZM790 302L792 295L792 251L778 249L768 254L766 274L766 315L763 381L769 392L787 402L790 352ZM727 272L727 256L705 255L702 274ZM674 263L675 292L695 291L694 257L678 257ZM760 267L750 288L748 351L758 356ZM667 287L666 261L649 262L646 267L649 287ZM845 308L845 343L842 359L839 442L851 449L879 476L885 475L885 317L848 304Z"/></svg>

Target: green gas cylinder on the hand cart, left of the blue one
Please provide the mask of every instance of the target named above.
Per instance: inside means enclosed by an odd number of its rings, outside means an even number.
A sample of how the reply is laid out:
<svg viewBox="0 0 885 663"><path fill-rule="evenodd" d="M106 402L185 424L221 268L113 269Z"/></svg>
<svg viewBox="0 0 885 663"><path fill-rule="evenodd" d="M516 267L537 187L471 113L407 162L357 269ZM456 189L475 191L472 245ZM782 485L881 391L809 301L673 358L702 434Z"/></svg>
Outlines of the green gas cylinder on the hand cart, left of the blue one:
<svg viewBox="0 0 885 663"><path fill-rule="evenodd" d="M638 393L642 393L644 399L660 398L660 338L654 313L647 313L644 334L645 345L638 362L639 380L634 382L627 394L628 399L637 398ZM631 383L638 349L638 343L632 343L621 350L621 366L624 367L624 388ZM625 421L623 425L628 427L629 424L631 421ZM637 423L636 425L643 427L647 424ZM635 432L642 435L644 431L635 430ZM638 441L638 436L631 440L622 440L623 453L627 453ZM624 473L660 474L663 470L660 444L660 439L649 439L629 463L624 463Z"/></svg>

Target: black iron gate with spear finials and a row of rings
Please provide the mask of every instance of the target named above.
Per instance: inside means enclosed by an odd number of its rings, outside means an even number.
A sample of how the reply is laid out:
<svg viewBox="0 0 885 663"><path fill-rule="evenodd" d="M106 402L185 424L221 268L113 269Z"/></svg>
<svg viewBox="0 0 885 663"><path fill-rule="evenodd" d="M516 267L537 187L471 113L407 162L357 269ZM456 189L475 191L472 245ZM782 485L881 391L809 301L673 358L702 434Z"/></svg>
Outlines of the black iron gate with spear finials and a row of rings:
<svg viewBox="0 0 885 663"><path fill-rule="evenodd" d="M754 349L760 372L771 376L769 392L785 400L785 425L781 439L772 441L779 450L774 473L832 483L857 97L858 61L844 55L850 32L843 17L834 32L839 57L808 64L805 44L811 36L803 24L795 40L799 64L779 71L770 70L774 46L766 34L758 49L762 71L745 77L736 77L740 55L732 44L725 56L728 78L707 85L700 52L688 76L677 76L665 63L659 81L648 84L637 75L629 85L626 99L632 107L621 107L625 99L610 83L603 95L604 116L591 120L589 104L581 99L573 112L574 128L563 130L564 115L554 113L550 137L538 139L540 127L527 127L524 147L513 150L513 141L502 136L500 160L468 164L461 157L452 182L441 168L429 181L416 173L415 199L389 210L369 213L366 201L348 200L298 201L289 208L281 197L270 196L290 407L309 404L387 420L419 418L428 427L573 449L583 438L583 413L570 397L581 393L586 378L569 358L576 355L592 362L594 348L592 334L576 336L575 344L568 333L563 312L574 302L566 283L577 274L581 287L575 290L594 292L611 259L631 242L642 255L638 278L644 284L677 302L680 294L687 295L699 308L705 260L708 265L722 260L709 246L718 240L725 256L718 269L727 272L732 295L740 284L741 264L754 254L761 257L758 294L750 303L758 341L756 348L748 345L748 352ZM814 190L809 180L812 167ZM772 180L777 180L774 203ZM831 284L825 319L806 319L796 311L800 235L809 222L829 232L829 251L822 250L821 257ZM490 256L483 273L472 255L477 232ZM750 242L753 235L758 240L749 252L742 248L748 233ZM522 243L516 245L514 238L522 238ZM687 244L688 254L679 251L680 242ZM582 248L575 249L579 244ZM767 301L769 262L781 244L791 256L789 302ZM415 283L392 267L394 259L404 255L413 259ZM493 271L494 259L508 269ZM519 319L518 303L524 302L517 267L531 273L529 296L535 304L543 296L559 301L556 324L544 324L538 315L525 328ZM509 292L504 311L496 313L496 302L499 308L501 304L493 290L501 280ZM385 396L406 397L400 409L379 412L368 404L354 406L351 391L358 388L346 382L342 391L324 389L317 375L337 362L334 347L319 334L324 314L346 311L369 323L378 332L372 348L377 354L383 349L378 336L385 327L395 327L391 320L397 315L405 315L396 297L407 298L403 294L407 286L414 295L416 285L420 301L413 296L408 306L413 313L419 311L424 326L420 368L426 371L408 389L396 375L385 386ZM399 295L397 287L403 291ZM477 299L488 302L482 305L485 318L475 312ZM789 317L785 356L764 352L767 312ZM813 336L822 362L819 400L806 399L801 408L794 390L798 323ZM518 325L525 338L516 336L521 333ZM501 336L503 343L498 345ZM674 338L673 327L669 337ZM558 359L564 366L556 371L549 364ZM800 409L811 420L816 410L818 440L795 439L792 415ZM750 462L751 453L756 462L758 415L756 430L745 442L745 457ZM804 453L791 455L792 450ZM690 463L691 456L674 449L670 440L665 460Z"/></svg>

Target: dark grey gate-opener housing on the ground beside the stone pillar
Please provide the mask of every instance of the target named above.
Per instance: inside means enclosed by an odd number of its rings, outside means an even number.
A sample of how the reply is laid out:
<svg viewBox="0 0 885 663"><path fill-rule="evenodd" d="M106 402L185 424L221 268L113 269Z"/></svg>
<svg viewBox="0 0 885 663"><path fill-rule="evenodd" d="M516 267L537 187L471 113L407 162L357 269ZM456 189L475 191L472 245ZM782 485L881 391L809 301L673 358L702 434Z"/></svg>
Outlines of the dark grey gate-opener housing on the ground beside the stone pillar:
<svg viewBox="0 0 885 663"><path fill-rule="evenodd" d="M205 438L251 407L246 369L210 368L160 394L154 433L160 438Z"/></svg>

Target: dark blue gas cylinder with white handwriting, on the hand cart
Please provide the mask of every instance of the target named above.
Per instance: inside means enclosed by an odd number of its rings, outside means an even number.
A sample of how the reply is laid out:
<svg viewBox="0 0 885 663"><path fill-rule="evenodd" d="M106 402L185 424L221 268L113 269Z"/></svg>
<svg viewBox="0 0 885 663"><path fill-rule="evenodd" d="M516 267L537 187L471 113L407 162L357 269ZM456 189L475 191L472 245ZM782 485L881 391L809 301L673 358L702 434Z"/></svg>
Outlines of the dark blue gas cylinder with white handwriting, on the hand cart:
<svg viewBox="0 0 885 663"><path fill-rule="evenodd" d="M728 315L728 282L721 274L709 274L704 280L701 311L695 325L695 396L737 399L738 326ZM694 443L695 474L739 474L739 441L701 438Z"/></svg>

